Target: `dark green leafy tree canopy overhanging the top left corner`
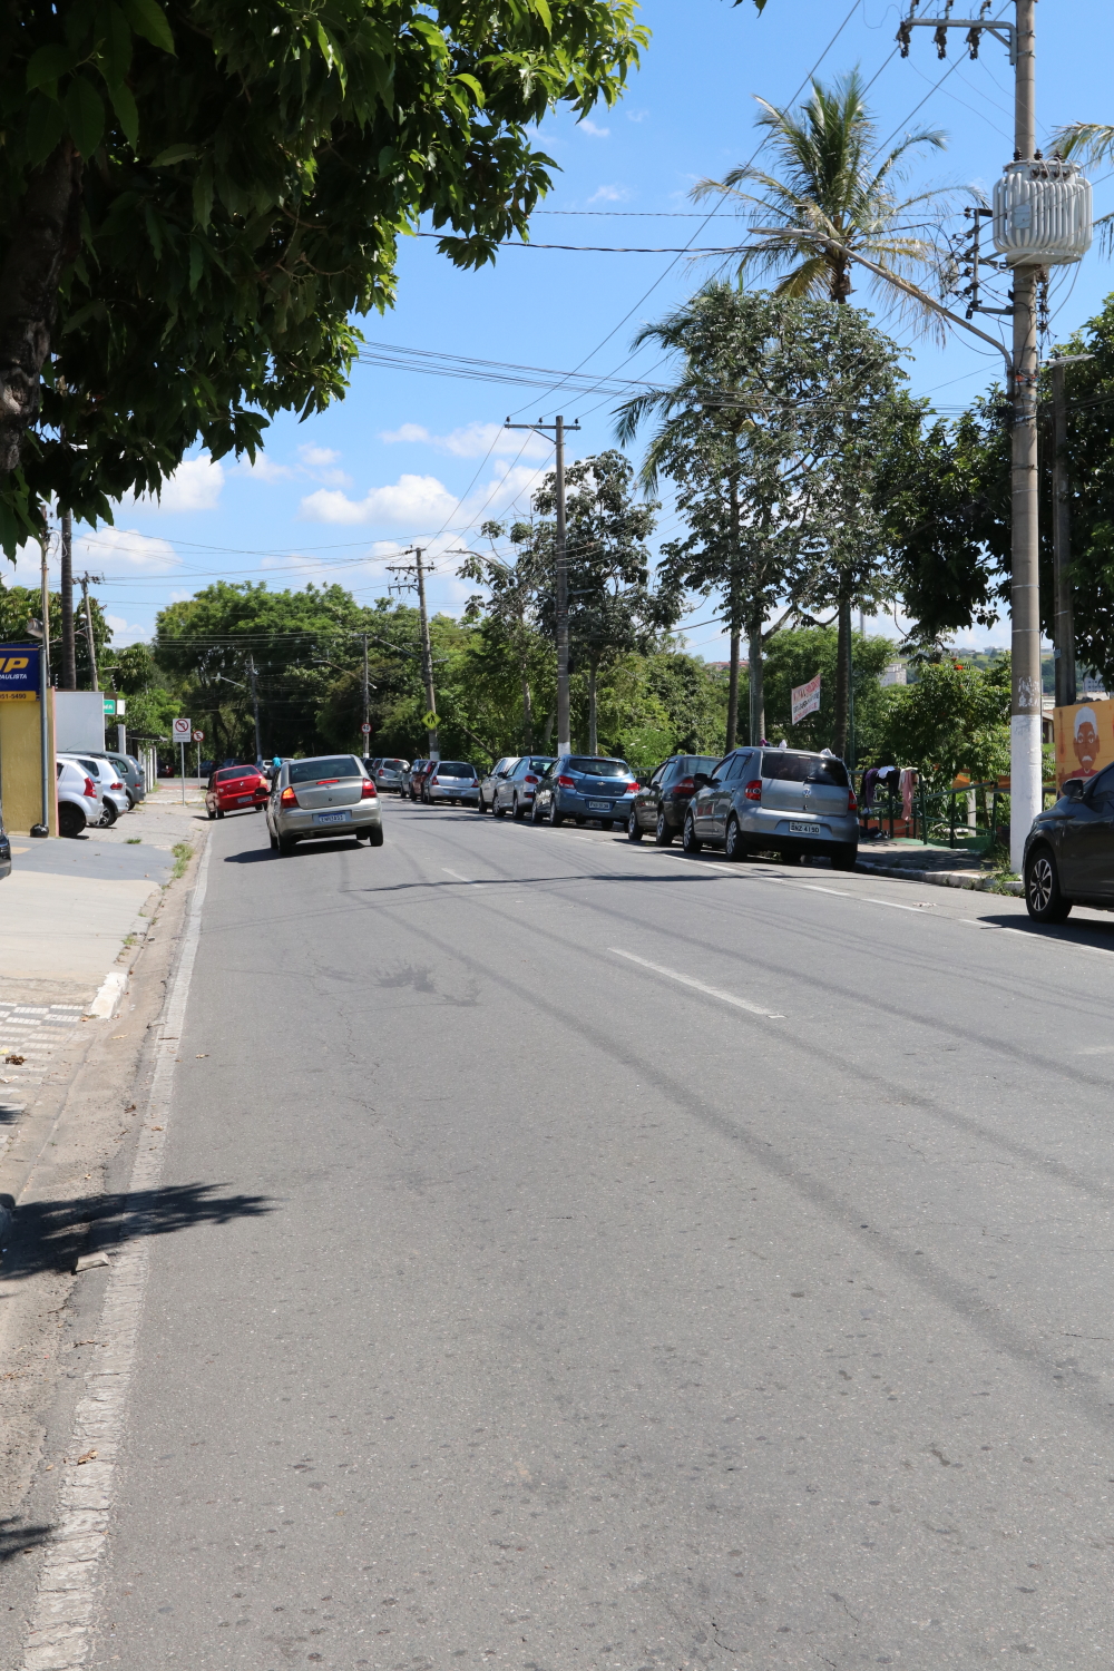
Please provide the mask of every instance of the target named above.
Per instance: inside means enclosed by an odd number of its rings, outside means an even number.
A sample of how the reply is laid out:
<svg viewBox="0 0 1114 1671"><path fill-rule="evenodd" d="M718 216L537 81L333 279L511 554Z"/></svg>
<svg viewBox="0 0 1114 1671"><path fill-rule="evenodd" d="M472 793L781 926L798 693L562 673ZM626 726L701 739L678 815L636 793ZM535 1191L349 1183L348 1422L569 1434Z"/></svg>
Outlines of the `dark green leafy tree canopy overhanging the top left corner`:
<svg viewBox="0 0 1114 1671"><path fill-rule="evenodd" d="M428 216L526 236L533 125L618 97L633 0L13 0L0 17L0 541L342 393ZM45 384L45 388L42 388ZM62 439L65 433L65 439Z"/></svg>

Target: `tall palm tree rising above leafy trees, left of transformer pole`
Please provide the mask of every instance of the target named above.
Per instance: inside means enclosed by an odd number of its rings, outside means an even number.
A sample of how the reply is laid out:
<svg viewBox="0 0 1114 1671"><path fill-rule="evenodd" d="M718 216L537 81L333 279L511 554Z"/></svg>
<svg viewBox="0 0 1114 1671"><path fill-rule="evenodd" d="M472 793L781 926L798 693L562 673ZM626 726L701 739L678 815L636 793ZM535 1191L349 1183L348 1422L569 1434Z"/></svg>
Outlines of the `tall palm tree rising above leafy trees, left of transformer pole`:
<svg viewBox="0 0 1114 1671"><path fill-rule="evenodd" d="M942 333L942 321L915 279L932 282L940 269L932 226L952 197L935 187L902 197L897 182L912 154L942 150L944 134L920 129L880 154L875 124L865 104L858 70L833 87L812 82L800 110L780 110L760 99L758 127L773 149L770 169L750 162L722 180L701 180L693 197L720 196L747 206L752 242L738 251L738 277L777 277L780 297L822 297L845 302L852 292L855 257L870 262L870 289L924 331ZM755 187L750 190L747 187ZM840 650L835 683L835 735L847 735L850 692L850 585L838 597Z"/></svg>

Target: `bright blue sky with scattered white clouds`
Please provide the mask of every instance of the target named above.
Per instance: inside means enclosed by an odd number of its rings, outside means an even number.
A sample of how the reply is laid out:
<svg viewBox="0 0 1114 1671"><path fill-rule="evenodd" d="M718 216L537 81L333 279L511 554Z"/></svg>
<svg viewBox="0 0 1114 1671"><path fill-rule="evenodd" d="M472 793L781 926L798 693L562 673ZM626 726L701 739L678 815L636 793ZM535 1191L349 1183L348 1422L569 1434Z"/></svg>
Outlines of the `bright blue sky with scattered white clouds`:
<svg viewBox="0 0 1114 1671"><path fill-rule="evenodd" d="M929 15L934 7L920 7ZM960 7L962 10L962 7ZM995 15L1012 17L995 3ZM894 35L907 5L887 0L768 0L762 15L745 0L645 0L651 30L643 65L613 109L580 124L549 117L539 145L558 165L554 189L531 222L531 247L499 252L494 267L459 272L429 237L404 241L397 306L361 321L371 346L511 363L580 376L541 388L506 386L357 364L347 398L306 423L279 418L266 451L247 460L187 458L160 500L119 506L115 526L75 530L75 571L104 575L97 590L117 645L149 638L159 608L217 578L272 587L339 582L359 602L382 597L387 565L413 543L434 566L429 603L458 615L474 587L461 582L456 555L484 548L488 518L526 515L551 443L516 423L580 419L568 460L615 444L613 391L585 393L590 379L661 378L668 363L631 354L638 328L678 306L715 271L713 257L676 254L740 237L725 209L691 201L701 179L720 179L755 154L755 97L800 99L812 74L832 80L858 67L882 144L920 127L947 135L944 152L914 162L907 190L954 185L989 194L1012 157L1012 72L1005 48L984 38L977 62L952 32L939 62L930 30L915 30L909 58ZM1037 132L1069 120L1111 120L1109 0L1044 0L1037 7ZM1092 170L1096 216L1114 211L1114 177ZM959 202L969 201L960 196ZM962 224L962 212L959 216ZM576 246L553 249L544 246ZM585 246L608 246L590 249ZM611 252L613 247L643 252ZM1052 281L1051 341L1091 317L1114 289L1097 244ZM858 289L852 301L875 306ZM875 307L875 311L879 311ZM882 319L905 358L909 388L940 413L955 413L1000 373L1000 356L964 333L947 343L917 339ZM995 321L980 319L994 331ZM631 455L641 461L641 443ZM666 503L658 538L678 518ZM57 550L52 560L57 585ZM38 555L17 573L38 580ZM713 603L696 603L681 623L688 647L727 657ZM894 633L885 620L868 630ZM1005 643L1009 623L962 643Z"/></svg>

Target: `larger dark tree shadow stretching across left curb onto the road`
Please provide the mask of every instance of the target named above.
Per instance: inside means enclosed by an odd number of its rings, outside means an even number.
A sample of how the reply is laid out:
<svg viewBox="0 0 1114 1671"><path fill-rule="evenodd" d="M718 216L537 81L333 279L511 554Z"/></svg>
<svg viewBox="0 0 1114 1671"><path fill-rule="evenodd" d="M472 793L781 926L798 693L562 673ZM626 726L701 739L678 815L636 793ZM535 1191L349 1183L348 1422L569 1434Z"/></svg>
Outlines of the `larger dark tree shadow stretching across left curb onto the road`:
<svg viewBox="0 0 1114 1671"><path fill-rule="evenodd" d="M274 1211L266 1195L215 1195L219 1188L219 1183L180 1183L70 1201L27 1201L15 1218L3 1275L18 1280L42 1270L73 1270L90 1248L112 1253L140 1237L167 1237Z"/></svg>

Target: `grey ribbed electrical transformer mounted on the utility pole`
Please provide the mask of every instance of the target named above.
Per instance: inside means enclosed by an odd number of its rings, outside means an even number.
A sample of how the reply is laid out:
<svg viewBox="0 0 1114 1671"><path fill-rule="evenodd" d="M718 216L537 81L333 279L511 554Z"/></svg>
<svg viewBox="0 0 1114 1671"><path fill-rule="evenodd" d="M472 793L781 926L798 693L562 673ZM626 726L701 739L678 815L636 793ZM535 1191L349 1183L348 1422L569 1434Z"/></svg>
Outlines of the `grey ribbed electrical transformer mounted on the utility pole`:
<svg viewBox="0 0 1114 1671"><path fill-rule="evenodd" d="M994 247L1010 267L1059 267L1091 249L1091 180L1059 157L1009 162L994 187Z"/></svg>

